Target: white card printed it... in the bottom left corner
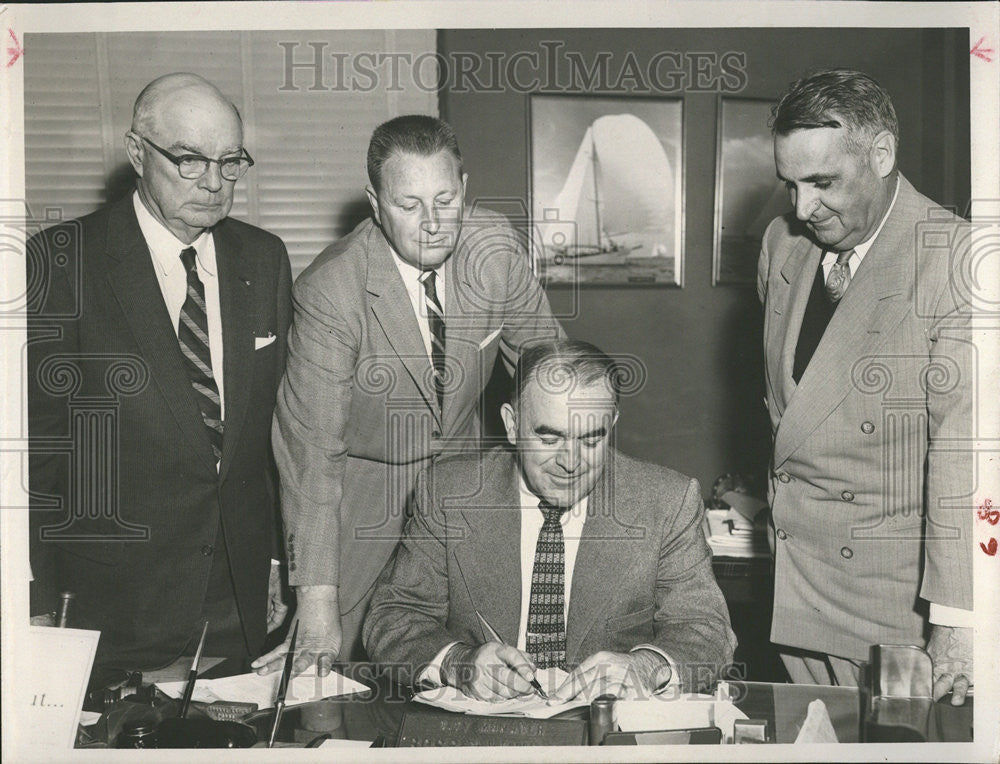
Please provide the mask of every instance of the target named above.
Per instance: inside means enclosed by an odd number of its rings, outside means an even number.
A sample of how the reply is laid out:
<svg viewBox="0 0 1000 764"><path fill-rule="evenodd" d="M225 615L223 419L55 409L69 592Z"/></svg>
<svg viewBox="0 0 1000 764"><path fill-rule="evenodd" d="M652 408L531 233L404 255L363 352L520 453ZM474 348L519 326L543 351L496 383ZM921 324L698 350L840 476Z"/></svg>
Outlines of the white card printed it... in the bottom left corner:
<svg viewBox="0 0 1000 764"><path fill-rule="evenodd" d="M20 743L73 747L100 637L99 631L29 627L28 665L20 669L24 675L18 702L25 707Z"/></svg>

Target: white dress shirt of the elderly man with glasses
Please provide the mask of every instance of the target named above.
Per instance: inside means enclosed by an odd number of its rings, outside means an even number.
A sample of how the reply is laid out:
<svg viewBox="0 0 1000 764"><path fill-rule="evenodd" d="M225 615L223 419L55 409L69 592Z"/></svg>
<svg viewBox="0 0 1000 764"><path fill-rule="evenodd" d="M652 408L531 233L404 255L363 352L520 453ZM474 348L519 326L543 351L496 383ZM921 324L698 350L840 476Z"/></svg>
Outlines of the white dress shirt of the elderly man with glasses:
<svg viewBox="0 0 1000 764"><path fill-rule="evenodd" d="M181 260L181 252L188 247L194 247L198 253L198 278L205 285L205 312L208 314L208 342L212 353L212 376L219 388L219 403L222 409L222 419L226 418L226 396L222 383L222 316L219 308L219 271L215 261L215 240L211 231L205 231L190 244L185 244L171 233L166 226L153 217L146 209L139 192L132 195L135 206L135 216L139 220L139 228L149 247L156 271L156 280L160 284L163 302L167 306L170 323L177 334L181 320L181 308L187 297L187 271Z"/></svg>

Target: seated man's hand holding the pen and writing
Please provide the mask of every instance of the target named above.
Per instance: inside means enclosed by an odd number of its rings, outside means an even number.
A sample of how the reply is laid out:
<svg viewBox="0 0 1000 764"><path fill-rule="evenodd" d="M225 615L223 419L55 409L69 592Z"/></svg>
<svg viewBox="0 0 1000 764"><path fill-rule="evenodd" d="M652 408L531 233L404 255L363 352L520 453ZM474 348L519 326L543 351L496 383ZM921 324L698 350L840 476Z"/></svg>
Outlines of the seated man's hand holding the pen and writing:
<svg viewBox="0 0 1000 764"><path fill-rule="evenodd" d="M535 668L516 647L487 642L479 647L455 645L441 662L444 683L470 698L498 701L534 692Z"/></svg>

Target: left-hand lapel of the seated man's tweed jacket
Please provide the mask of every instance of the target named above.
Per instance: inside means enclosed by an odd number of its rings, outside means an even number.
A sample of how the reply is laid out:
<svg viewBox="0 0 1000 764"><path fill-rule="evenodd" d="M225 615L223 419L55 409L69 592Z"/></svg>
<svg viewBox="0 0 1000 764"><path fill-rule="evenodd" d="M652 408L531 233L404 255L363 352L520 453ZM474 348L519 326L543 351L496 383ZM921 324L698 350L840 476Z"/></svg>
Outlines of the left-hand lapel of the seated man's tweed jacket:
<svg viewBox="0 0 1000 764"><path fill-rule="evenodd" d="M483 487L476 499L479 506L462 510L468 537L456 545L455 557L473 607L504 642L516 645L521 623L521 502L517 464L506 449L500 449L483 464Z"/></svg>

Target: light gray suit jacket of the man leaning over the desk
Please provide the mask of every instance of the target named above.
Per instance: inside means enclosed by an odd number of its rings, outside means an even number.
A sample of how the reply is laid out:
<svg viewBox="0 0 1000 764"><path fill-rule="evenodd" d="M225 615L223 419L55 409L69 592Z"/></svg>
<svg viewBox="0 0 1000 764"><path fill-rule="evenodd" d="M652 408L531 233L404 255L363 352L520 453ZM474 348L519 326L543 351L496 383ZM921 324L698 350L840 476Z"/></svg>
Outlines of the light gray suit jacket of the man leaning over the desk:
<svg viewBox="0 0 1000 764"><path fill-rule="evenodd" d="M412 304L371 220L295 282L273 427L289 580L339 584L345 613L395 548L420 469L478 445L498 350L512 363L525 343L563 336L500 215L466 218L445 284L451 381L442 411Z"/></svg>

